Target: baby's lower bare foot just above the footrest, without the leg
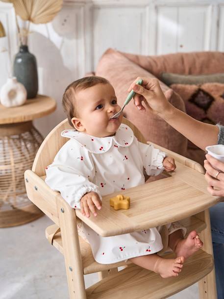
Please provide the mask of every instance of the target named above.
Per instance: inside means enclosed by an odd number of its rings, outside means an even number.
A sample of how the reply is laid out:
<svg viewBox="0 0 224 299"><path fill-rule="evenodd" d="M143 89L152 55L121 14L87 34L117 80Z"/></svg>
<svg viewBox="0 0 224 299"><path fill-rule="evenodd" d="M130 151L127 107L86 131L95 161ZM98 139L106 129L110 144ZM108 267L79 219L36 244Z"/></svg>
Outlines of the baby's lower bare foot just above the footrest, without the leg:
<svg viewBox="0 0 224 299"><path fill-rule="evenodd" d="M175 259L166 259L159 257L154 266L154 272L159 273L161 277L167 278L178 276L184 263L184 257L180 256Z"/></svg>

